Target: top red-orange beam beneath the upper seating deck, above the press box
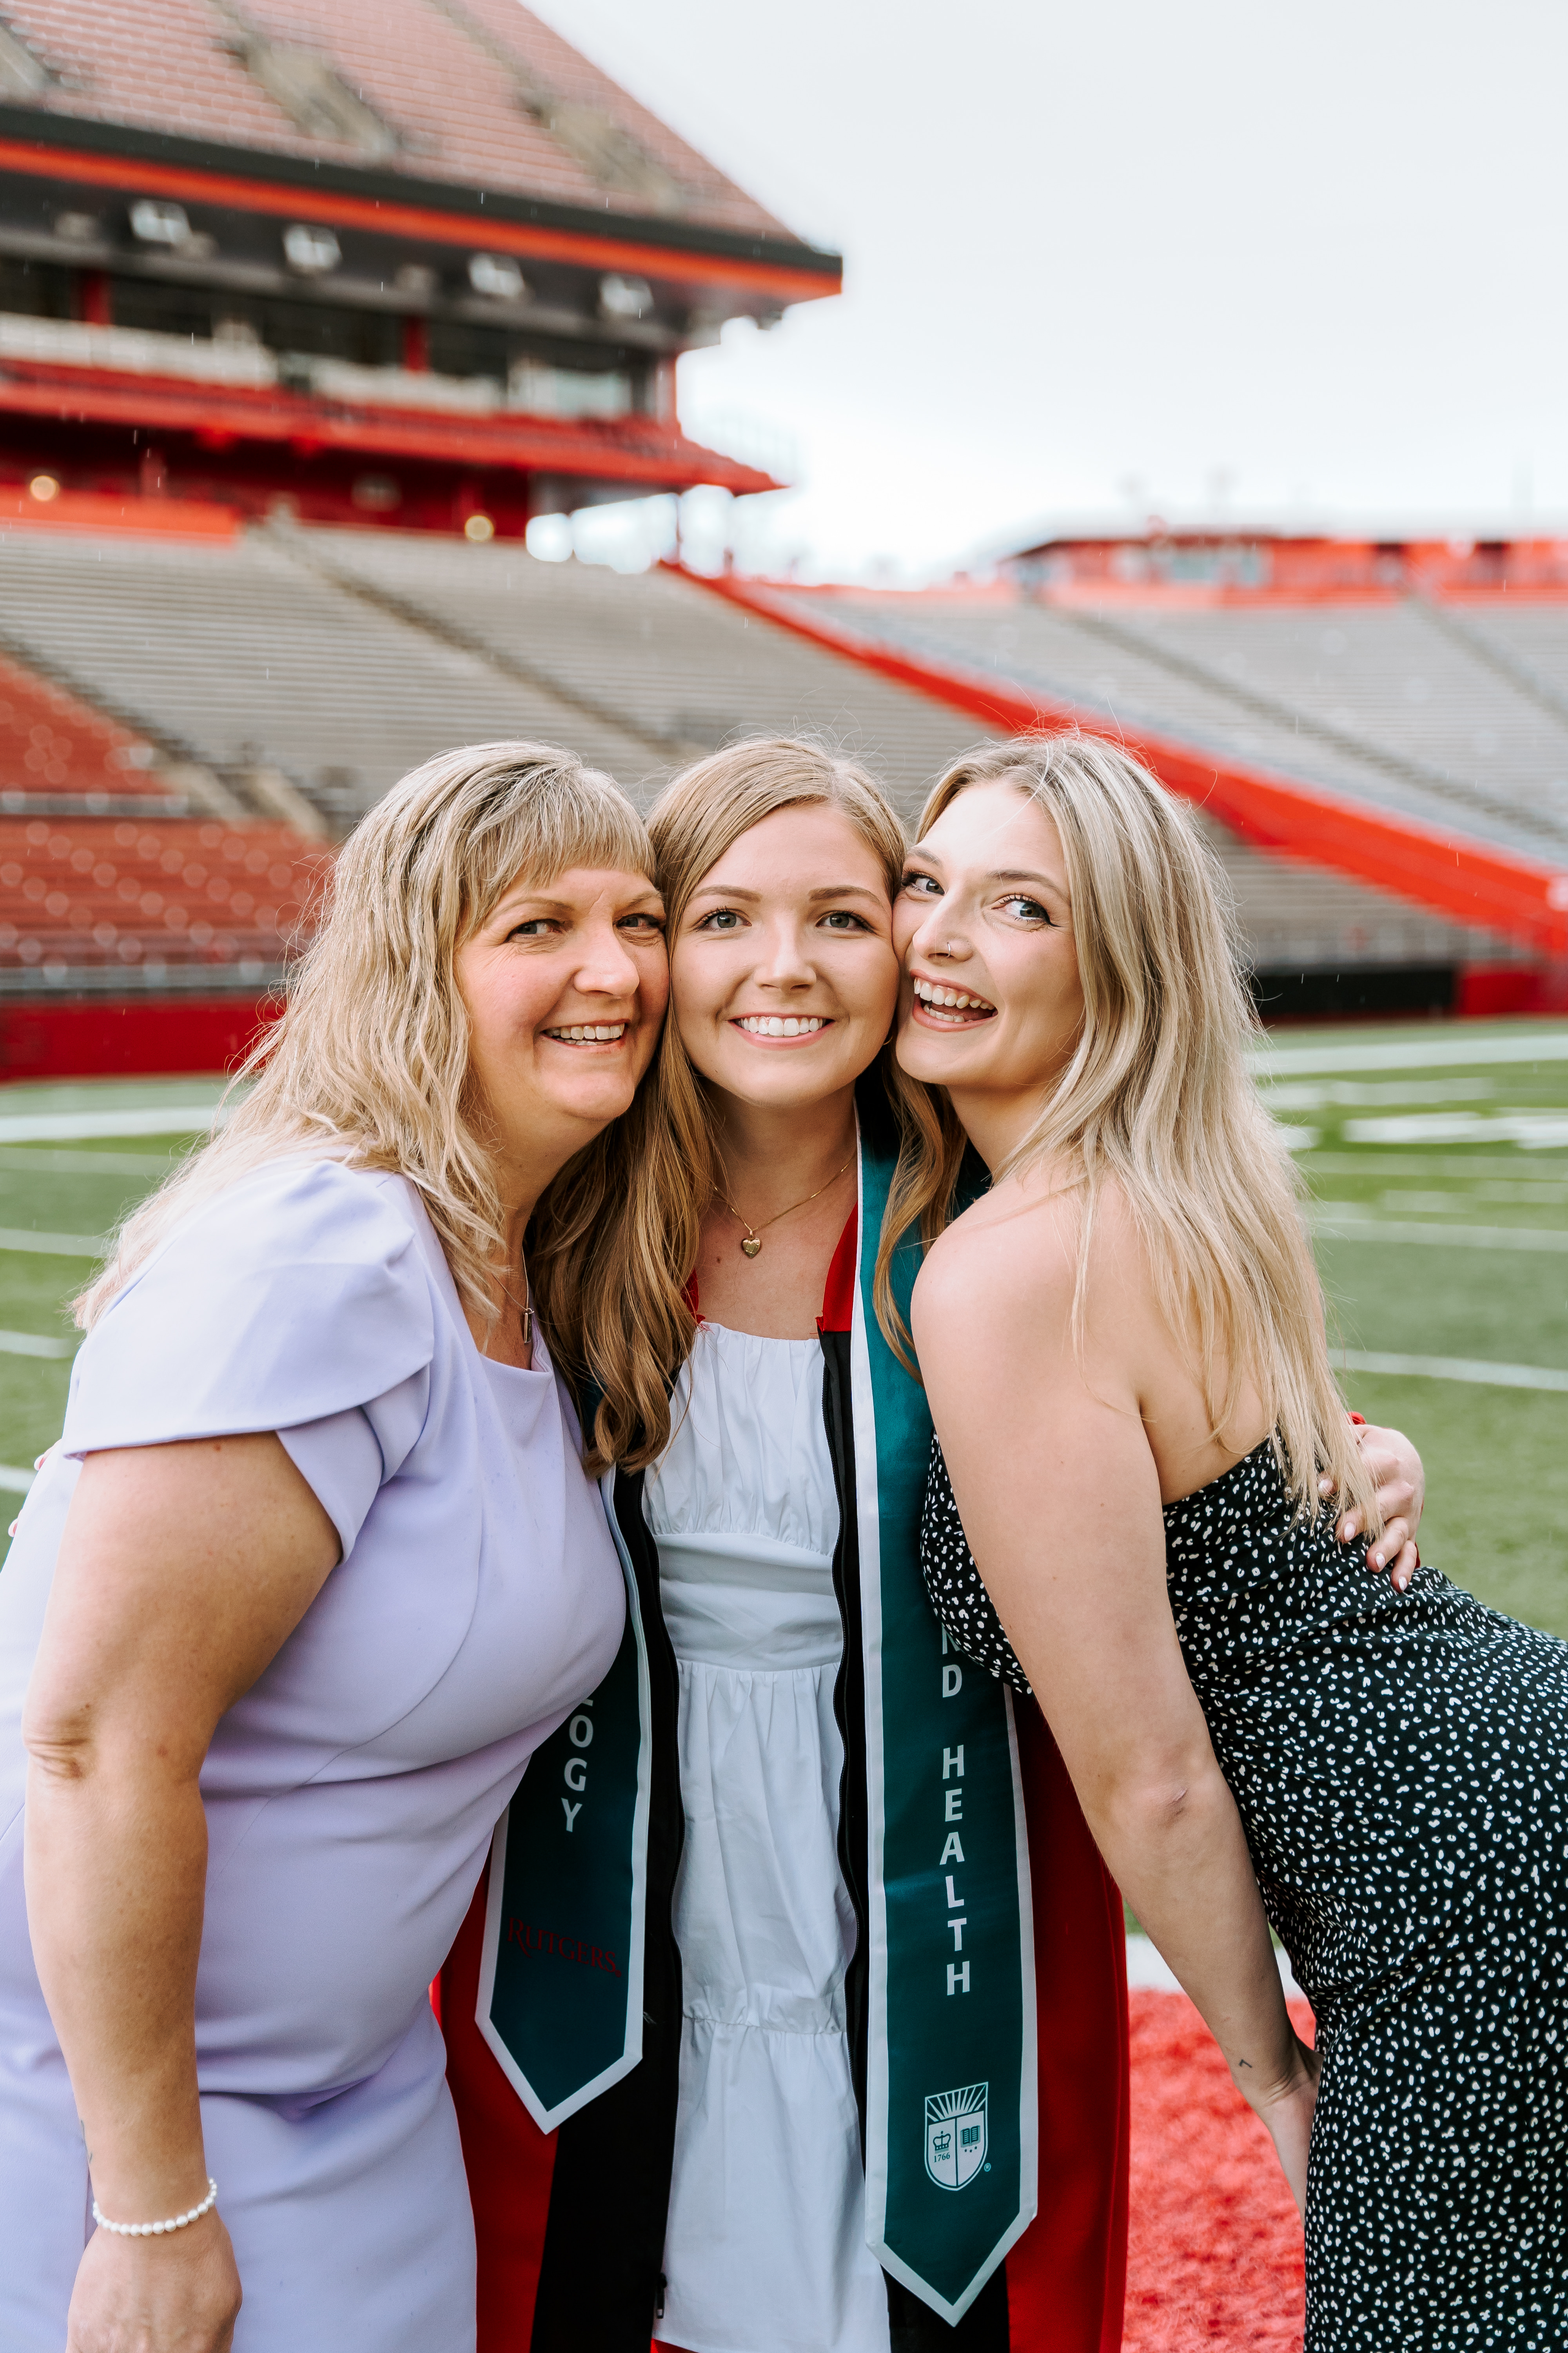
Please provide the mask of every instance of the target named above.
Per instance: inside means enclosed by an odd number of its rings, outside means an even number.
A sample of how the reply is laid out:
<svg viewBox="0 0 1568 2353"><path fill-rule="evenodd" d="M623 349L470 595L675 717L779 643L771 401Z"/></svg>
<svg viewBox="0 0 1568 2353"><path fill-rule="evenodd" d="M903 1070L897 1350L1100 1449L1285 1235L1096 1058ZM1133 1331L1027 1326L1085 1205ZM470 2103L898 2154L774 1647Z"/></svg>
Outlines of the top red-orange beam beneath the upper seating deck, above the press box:
<svg viewBox="0 0 1568 2353"><path fill-rule="evenodd" d="M693 489L705 482L736 496L780 487L757 466L703 449L701 442L670 433L651 416L632 416L625 424L557 424L550 416L515 412L449 416L428 409L343 407L306 393L183 384L172 376L68 369L35 360L5 360L0 412L7 409L61 424L122 424L207 438L228 433L242 440L289 442L301 454L350 449L367 456L642 482L654 489Z"/></svg>

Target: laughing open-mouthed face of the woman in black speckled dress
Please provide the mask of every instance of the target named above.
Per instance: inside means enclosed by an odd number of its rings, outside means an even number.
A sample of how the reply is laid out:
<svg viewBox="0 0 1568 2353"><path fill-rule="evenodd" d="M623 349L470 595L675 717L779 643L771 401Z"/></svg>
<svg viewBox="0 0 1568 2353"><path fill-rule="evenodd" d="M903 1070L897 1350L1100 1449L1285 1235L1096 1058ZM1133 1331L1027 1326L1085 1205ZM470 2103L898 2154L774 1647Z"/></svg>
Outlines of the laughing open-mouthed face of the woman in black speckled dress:
<svg viewBox="0 0 1568 2353"><path fill-rule="evenodd" d="M1016 784L976 784L910 854L893 908L905 965L898 1061L947 1087L994 1165L1067 1066L1084 1024L1067 861Z"/></svg>

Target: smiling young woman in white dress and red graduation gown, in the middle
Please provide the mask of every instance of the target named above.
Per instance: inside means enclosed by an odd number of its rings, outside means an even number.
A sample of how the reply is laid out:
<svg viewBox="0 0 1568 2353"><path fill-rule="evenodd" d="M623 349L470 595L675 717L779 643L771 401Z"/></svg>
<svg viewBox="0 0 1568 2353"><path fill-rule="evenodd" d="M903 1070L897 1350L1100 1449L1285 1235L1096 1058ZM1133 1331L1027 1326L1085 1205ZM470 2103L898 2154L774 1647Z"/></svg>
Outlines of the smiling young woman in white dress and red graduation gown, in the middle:
<svg viewBox="0 0 1568 2353"><path fill-rule="evenodd" d="M642 2353L654 2327L682 2353L1103 2353L1121 2327L1121 1906L1034 1711L1018 1746L1037 1849L1039 2219L957 2322L919 2259L889 2259L891 2231L867 2231L877 2045L898 2040L900 2017L893 1993L877 2019L870 1951L882 1817L867 1751L891 1755L891 1732L879 1751L867 1729L856 1520L865 1539L867 1518L886 1529L910 1504L903 1567L929 1624L914 1567L929 1419L870 1301L900 1132L884 1047L903 831L849 762L762 741L670 786L651 833L670 918L665 1139L649 1136L621 1202L595 1198L595 1249L541 1242L534 1261L574 1360L597 1285L637 1249L689 1278L684 1362L630 1325L621 1355L590 1360L602 1381L616 1372L597 1445L621 1461L654 1685L646 2040L632 2075L541 2134L473 2031L470 1918L442 2009L480 2224L480 2346ZM571 1176L550 1207L557 1233L585 1231ZM856 1386L853 1367L877 1351L872 1440L875 1384ZM912 1478L889 1459L898 1414ZM1420 1466L1373 1435L1399 1548Z"/></svg>

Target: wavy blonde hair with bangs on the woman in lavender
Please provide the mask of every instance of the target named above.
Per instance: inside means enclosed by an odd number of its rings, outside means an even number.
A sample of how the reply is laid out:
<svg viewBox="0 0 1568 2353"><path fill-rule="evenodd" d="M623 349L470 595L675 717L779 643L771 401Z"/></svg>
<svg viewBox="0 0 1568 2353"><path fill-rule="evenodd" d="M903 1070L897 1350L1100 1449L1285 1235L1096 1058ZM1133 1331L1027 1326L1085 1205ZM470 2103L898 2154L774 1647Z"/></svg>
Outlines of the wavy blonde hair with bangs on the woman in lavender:
<svg viewBox="0 0 1568 2353"><path fill-rule="evenodd" d="M282 1153L334 1153L418 1186L458 1292L494 1313L505 1226L468 1075L456 951L501 894L571 866L654 873L625 793L548 744L437 753L355 826L289 1002L240 1064L226 1127L115 1238L75 1301L94 1325L153 1249L223 1186Z"/></svg>

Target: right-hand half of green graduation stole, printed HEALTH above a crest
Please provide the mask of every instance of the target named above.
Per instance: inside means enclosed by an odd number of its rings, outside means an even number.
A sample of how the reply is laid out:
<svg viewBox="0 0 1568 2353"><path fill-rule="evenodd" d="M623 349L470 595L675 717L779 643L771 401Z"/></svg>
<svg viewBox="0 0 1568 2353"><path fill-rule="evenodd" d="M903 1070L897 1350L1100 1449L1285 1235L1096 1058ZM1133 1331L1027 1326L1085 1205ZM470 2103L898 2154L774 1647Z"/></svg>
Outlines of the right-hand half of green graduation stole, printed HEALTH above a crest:
<svg viewBox="0 0 1568 2353"><path fill-rule="evenodd" d="M926 1393L872 1306L891 1162L860 1153L851 1414L870 1795L865 2235L947 2322L1037 2212L1034 1918L1013 1699L919 1574ZM907 1320L919 1240L893 1259Z"/></svg>

